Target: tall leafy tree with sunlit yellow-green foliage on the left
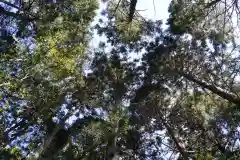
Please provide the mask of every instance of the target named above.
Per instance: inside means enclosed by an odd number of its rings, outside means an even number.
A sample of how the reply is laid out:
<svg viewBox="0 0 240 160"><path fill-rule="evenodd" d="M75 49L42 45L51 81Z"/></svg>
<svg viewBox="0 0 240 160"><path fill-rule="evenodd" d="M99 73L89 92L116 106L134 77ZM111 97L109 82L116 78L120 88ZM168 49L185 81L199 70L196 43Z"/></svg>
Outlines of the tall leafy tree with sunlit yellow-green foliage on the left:
<svg viewBox="0 0 240 160"><path fill-rule="evenodd" d="M19 13L9 13L13 8ZM51 121L61 109L65 96L74 92L73 86L82 83L81 61L95 9L96 1L57 1L46 5L44 1L16 1L15 4L3 1L4 20L11 20L6 29L16 26L16 32L9 36L17 39L15 55L8 59L3 57L1 63L5 67L1 93L7 101L4 115L10 114L12 119L4 118L10 142L16 137L22 137L23 142L29 141L24 135L33 130L37 135L31 137L36 141L32 147L37 147L37 141L42 140L39 135L45 135L44 126L48 126L49 119ZM37 18L25 18L32 14ZM7 44L10 43L7 41ZM72 83L73 80L76 83ZM25 149L28 152L29 149Z"/></svg>

